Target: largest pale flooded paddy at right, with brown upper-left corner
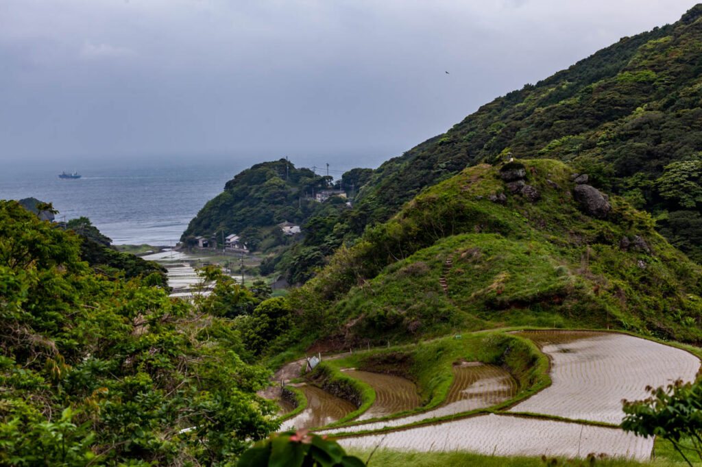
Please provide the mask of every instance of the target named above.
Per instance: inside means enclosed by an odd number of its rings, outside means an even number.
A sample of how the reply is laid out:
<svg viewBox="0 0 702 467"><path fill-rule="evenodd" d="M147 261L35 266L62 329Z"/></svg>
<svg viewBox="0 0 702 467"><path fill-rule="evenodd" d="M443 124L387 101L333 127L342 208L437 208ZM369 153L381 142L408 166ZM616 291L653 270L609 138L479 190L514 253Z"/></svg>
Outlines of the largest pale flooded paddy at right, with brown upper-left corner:
<svg viewBox="0 0 702 467"><path fill-rule="evenodd" d="M611 332L522 331L551 359L551 386L512 407L569 419L619 424L621 400L646 386L694 381L700 360L679 348Z"/></svg>

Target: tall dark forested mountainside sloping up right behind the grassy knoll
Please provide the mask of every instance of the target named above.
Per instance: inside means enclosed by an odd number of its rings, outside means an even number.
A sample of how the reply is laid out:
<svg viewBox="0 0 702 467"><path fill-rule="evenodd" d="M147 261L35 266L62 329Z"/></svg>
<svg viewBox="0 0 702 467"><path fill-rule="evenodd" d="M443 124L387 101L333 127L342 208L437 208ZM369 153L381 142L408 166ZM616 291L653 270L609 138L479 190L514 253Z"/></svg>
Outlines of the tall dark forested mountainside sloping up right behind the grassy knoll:
<svg viewBox="0 0 702 467"><path fill-rule="evenodd" d="M385 162L337 219L336 244L383 222L422 189L511 153L557 158L656 217L702 259L702 5L673 25L604 48L480 107Z"/></svg>

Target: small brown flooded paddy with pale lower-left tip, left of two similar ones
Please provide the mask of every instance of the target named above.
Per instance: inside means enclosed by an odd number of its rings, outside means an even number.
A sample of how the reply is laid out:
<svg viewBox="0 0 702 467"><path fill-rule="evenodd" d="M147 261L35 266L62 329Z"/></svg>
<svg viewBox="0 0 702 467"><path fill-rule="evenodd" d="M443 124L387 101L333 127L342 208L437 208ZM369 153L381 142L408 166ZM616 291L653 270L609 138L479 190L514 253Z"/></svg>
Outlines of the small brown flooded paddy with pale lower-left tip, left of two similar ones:
<svg viewBox="0 0 702 467"><path fill-rule="evenodd" d="M331 395L316 386L302 386L307 407L295 417L283 422L280 431L299 430L329 425L356 410L355 405Z"/></svg>

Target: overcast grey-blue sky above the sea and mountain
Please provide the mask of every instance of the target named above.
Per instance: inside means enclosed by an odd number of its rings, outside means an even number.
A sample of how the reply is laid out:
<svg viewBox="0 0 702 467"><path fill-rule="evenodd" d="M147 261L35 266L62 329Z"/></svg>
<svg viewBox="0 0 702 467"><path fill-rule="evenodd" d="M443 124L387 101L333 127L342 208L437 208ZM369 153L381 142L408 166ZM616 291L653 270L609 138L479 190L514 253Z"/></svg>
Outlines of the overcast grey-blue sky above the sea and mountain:
<svg viewBox="0 0 702 467"><path fill-rule="evenodd" d="M0 0L0 161L382 161L694 3Z"/></svg>

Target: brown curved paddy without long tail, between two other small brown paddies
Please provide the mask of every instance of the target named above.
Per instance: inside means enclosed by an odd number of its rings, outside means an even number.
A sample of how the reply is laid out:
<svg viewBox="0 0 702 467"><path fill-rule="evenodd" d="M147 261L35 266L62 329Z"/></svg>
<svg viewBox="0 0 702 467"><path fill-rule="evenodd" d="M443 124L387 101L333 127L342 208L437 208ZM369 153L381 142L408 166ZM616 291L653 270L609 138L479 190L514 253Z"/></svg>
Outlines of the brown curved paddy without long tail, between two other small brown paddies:
<svg viewBox="0 0 702 467"><path fill-rule="evenodd" d="M413 410L421 404L417 387L409 379L392 374L360 370L347 370L345 373L352 378L363 381L376 391L375 402L358 417L358 420L374 419L405 410Z"/></svg>

